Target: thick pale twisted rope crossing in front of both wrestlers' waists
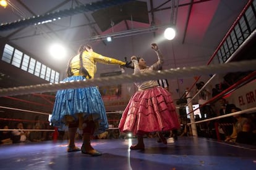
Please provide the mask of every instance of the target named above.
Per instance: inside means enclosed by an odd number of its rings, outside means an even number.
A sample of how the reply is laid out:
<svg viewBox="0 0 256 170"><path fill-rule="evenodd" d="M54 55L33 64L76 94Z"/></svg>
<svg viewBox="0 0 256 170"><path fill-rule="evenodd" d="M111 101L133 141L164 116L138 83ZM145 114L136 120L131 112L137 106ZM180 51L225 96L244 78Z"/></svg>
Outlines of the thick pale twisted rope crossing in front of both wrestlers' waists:
<svg viewBox="0 0 256 170"><path fill-rule="evenodd" d="M109 76L105 78L87 79L86 81L74 81L58 84L38 84L35 86L20 86L13 88L0 89L0 97L7 95L22 95L38 92L54 92L59 89L75 89L90 86L106 86L121 83L131 83L147 81L150 79L163 78L185 78L195 75L210 75L216 73L228 73L237 71L255 70L256 60L247 60L242 62L231 62L218 65L198 66L198 67L183 67L171 68L169 70L155 71L139 75L119 75Z"/></svg>

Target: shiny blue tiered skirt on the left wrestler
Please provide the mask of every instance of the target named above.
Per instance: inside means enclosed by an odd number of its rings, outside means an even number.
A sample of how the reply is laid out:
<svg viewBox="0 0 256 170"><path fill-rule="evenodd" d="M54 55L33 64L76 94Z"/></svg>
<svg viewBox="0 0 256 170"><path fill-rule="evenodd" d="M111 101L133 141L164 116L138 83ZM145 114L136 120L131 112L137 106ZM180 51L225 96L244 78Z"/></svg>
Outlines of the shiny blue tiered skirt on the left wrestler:
<svg viewBox="0 0 256 170"><path fill-rule="evenodd" d="M83 76L71 76L62 82L85 81ZM74 121L93 120L96 124L95 134L108 129L106 110L97 87L82 89L64 89L56 93L51 116L54 126L62 127Z"/></svg>

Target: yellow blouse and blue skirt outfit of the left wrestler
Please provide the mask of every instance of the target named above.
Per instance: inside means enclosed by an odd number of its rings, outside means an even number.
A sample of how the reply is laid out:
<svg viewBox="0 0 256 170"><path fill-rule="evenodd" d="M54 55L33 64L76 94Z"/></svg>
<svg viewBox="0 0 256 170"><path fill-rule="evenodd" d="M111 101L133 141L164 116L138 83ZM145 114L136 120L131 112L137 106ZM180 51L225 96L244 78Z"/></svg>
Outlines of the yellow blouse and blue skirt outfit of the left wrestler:
<svg viewBox="0 0 256 170"><path fill-rule="evenodd" d="M116 65L125 64L119 60L104 57L96 52L84 51L82 58L83 67L87 69L88 74L92 76L92 78L96 72L96 62ZM87 81L87 78L79 73L79 55L76 55L71 60L70 68L74 75L64 79L62 83ZM100 134L108 129L105 106L98 88L85 87L80 89L59 90L56 93L51 123L53 123L54 126L62 127L72 121L79 120L80 122L81 119L82 121L89 119L95 122L95 134ZM79 128L82 129L82 127Z"/></svg>

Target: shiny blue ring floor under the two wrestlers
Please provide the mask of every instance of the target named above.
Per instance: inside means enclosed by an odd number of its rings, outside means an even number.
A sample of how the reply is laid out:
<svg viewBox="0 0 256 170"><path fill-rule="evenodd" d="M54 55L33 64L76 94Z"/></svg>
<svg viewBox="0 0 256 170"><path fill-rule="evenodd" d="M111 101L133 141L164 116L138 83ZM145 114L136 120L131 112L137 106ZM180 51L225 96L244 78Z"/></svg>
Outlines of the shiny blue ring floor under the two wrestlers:
<svg viewBox="0 0 256 170"><path fill-rule="evenodd" d="M129 150L137 139L92 140L103 153L93 157L67 153L67 140L0 146L0 169L256 169L256 146L180 137L159 144L145 138L145 150ZM81 147L82 140L76 142Z"/></svg>

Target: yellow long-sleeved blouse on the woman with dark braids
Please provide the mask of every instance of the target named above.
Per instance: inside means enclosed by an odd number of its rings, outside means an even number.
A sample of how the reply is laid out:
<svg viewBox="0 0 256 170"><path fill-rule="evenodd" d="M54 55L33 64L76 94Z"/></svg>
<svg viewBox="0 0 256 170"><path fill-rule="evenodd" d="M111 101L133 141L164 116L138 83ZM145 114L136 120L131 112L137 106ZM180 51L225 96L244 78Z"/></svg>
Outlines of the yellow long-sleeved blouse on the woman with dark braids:
<svg viewBox="0 0 256 170"><path fill-rule="evenodd" d="M105 57L96 52L83 52L83 67L88 71L89 75L94 78L94 74L96 73L96 63L104 63L104 64L116 64L116 65L125 65L125 62L120 60L116 60L110 57ZM70 62L70 68L74 76L82 76L79 73L80 68L80 59L79 55L75 55L75 57Z"/></svg>

